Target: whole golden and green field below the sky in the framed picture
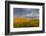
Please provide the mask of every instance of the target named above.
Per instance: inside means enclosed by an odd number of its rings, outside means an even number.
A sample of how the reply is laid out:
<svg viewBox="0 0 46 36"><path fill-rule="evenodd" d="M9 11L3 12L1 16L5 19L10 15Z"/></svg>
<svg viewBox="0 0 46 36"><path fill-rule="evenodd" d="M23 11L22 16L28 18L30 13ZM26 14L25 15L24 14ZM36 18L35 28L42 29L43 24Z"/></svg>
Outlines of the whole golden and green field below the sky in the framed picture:
<svg viewBox="0 0 46 36"><path fill-rule="evenodd" d="M26 18L16 18L13 19L13 27L14 28L21 28L21 27L38 27L39 26L39 19L30 19L27 20Z"/></svg>

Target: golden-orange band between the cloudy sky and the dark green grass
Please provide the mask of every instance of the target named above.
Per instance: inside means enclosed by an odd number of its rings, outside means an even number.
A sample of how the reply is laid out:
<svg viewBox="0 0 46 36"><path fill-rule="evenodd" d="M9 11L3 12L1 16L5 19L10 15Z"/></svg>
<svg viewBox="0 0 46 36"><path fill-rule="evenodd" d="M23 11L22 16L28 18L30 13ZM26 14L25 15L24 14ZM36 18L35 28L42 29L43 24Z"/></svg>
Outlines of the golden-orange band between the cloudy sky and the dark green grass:
<svg viewBox="0 0 46 36"><path fill-rule="evenodd" d="M38 19L38 17L24 17L24 18L14 17L14 22L16 23L31 22L33 19Z"/></svg>

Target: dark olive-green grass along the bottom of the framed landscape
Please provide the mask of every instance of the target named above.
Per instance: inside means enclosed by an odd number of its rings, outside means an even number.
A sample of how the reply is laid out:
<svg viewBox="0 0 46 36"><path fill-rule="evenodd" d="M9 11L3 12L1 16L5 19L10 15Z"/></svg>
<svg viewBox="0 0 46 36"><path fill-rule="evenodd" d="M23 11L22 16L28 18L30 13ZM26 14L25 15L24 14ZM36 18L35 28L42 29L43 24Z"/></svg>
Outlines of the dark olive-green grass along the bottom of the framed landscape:
<svg viewBox="0 0 46 36"><path fill-rule="evenodd" d="M33 19L29 22L24 23L14 23L14 28L21 28L21 27L38 27L39 26L39 19Z"/></svg>

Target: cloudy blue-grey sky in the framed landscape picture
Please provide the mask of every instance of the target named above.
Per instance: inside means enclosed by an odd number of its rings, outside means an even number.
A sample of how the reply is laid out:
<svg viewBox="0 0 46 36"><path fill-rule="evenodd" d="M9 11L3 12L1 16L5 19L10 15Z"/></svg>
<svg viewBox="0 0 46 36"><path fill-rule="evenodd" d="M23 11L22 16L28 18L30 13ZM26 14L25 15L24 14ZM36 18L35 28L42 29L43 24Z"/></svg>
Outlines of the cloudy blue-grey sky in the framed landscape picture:
<svg viewBox="0 0 46 36"><path fill-rule="evenodd" d="M13 15L16 17L35 17L39 16L39 9L13 8Z"/></svg>

